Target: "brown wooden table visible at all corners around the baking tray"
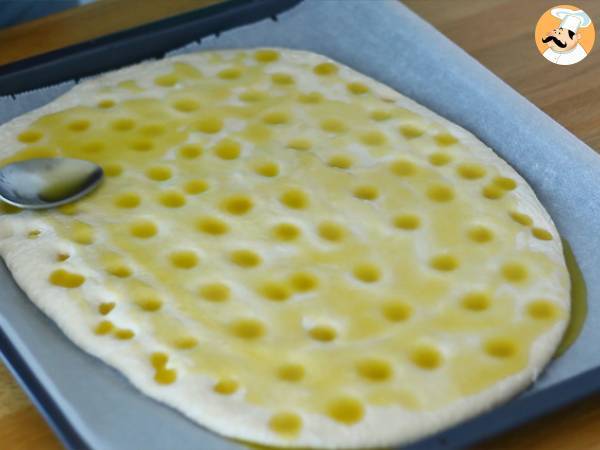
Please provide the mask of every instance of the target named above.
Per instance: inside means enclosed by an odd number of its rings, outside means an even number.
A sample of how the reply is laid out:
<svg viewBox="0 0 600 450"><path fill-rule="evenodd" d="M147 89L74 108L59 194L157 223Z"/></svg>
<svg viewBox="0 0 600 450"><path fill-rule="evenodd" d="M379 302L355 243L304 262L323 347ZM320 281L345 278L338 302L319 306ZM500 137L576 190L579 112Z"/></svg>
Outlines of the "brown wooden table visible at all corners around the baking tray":
<svg viewBox="0 0 600 450"><path fill-rule="evenodd" d="M0 64L189 11L214 0L101 0L0 30ZM596 151L600 148L600 42L574 66L542 58L533 42L545 0L404 0L450 39ZM579 2L600 26L600 1ZM126 11L124 13L124 11ZM401 44L397 44L401 45ZM477 446L479 450L600 450L600 393ZM60 444L0 365L0 447Z"/></svg>

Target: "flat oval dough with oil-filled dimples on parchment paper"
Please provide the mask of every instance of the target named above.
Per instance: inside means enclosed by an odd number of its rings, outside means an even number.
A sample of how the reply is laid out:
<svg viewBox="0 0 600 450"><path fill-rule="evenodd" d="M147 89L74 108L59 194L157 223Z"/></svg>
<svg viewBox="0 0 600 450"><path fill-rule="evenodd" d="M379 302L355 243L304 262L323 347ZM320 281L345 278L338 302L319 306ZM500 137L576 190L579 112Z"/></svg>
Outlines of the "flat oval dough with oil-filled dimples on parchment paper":
<svg viewBox="0 0 600 450"><path fill-rule="evenodd" d="M314 53L214 51L85 81L0 127L3 164L95 161L3 207L29 297L229 437L403 444L531 383L569 317L559 235L472 134Z"/></svg>

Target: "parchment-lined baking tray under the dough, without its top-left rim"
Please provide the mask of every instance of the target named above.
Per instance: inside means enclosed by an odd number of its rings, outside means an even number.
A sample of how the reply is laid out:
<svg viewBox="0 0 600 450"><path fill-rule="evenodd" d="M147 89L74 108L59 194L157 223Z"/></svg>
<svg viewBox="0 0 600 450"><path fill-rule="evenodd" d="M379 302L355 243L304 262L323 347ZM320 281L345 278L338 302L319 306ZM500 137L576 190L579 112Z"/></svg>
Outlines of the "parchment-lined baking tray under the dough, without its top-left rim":
<svg viewBox="0 0 600 450"><path fill-rule="evenodd" d="M173 53L252 46L331 56L475 133L535 189L583 272L588 317L581 335L530 389L404 449L465 447L600 389L600 157L593 150L395 0L305 0L277 21L238 27ZM0 98L0 123L72 85ZM67 447L243 448L139 394L78 350L26 299L4 266L0 282L4 357Z"/></svg>

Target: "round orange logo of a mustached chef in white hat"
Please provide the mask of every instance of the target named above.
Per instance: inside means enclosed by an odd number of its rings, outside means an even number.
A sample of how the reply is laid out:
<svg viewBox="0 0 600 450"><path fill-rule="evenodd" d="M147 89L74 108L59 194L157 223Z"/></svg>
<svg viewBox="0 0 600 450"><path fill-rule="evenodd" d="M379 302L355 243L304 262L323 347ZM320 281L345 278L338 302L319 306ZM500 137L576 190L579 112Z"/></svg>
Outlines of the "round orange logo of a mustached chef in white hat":
<svg viewBox="0 0 600 450"><path fill-rule="evenodd" d="M535 27L535 43L548 61L569 66L584 59L594 46L596 31L585 11L560 5L546 11Z"/></svg>

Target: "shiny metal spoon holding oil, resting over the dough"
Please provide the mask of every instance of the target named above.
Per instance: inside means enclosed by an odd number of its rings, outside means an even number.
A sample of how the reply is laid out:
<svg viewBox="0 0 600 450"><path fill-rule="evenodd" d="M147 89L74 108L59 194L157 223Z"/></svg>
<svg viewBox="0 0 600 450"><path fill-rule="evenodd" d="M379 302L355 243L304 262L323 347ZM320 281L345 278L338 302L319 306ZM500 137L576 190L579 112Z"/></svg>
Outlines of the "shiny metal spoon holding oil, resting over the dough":
<svg viewBox="0 0 600 450"><path fill-rule="evenodd" d="M64 205L98 186L104 172L89 161L38 158L0 168L0 200L24 209Z"/></svg>

